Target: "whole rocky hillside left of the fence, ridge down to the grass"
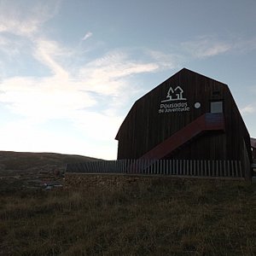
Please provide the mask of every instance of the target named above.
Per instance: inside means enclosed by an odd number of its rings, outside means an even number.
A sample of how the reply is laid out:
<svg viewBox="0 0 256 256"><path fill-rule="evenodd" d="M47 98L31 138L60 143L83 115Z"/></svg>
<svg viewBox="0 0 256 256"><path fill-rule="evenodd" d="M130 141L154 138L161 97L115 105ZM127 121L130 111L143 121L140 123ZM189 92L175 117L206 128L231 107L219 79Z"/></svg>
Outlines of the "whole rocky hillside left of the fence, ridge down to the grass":
<svg viewBox="0 0 256 256"><path fill-rule="evenodd" d="M0 151L0 192L61 186L67 163L95 158L55 153Z"/></svg>

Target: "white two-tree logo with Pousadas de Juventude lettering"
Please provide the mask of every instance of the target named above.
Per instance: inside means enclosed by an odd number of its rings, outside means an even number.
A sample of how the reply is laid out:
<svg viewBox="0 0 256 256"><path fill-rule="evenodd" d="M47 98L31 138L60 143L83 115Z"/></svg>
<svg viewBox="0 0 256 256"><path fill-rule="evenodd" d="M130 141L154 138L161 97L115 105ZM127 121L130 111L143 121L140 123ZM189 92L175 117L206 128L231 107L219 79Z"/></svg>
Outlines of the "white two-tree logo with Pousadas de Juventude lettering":
<svg viewBox="0 0 256 256"><path fill-rule="evenodd" d="M177 86L174 90L172 86L167 92L166 99L161 101L159 113L172 113L189 111L187 99L183 97L183 89ZM170 103L167 103L170 102Z"/></svg>

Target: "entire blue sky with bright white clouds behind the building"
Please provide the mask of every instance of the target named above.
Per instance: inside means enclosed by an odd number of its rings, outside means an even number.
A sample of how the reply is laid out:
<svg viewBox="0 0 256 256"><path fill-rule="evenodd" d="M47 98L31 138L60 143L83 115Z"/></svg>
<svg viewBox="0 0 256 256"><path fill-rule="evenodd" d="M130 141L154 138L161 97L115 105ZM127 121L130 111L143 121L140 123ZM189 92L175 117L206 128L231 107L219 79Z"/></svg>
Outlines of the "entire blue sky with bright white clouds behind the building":
<svg viewBox="0 0 256 256"><path fill-rule="evenodd" d="M0 150L114 160L132 104L186 67L256 137L255 0L0 0Z"/></svg>

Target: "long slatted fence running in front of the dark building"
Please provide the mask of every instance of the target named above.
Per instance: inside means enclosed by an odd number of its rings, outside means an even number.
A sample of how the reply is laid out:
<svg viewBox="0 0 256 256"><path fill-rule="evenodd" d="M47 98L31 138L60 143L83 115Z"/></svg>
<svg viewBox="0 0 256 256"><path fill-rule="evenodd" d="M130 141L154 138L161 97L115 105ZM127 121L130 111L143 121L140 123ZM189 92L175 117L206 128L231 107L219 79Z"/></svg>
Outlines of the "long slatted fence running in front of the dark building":
<svg viewBox="0 0 256 256"><path fill-rule="evenodd" d="M244 177L238 160L101 160L67 164L67 172Z"/></svg>

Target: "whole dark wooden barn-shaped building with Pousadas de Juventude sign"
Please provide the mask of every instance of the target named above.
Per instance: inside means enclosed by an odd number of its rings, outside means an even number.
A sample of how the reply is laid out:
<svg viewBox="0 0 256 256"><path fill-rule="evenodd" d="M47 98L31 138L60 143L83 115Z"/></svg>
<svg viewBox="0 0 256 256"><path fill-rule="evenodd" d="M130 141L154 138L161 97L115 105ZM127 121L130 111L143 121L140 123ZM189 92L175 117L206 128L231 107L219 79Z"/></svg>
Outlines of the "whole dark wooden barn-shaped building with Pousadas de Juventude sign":
<svg viewBox="0 0 256 256"><path fill-rule="evenodd" d="M118 159L238 160L251 176L247 127L227 84L183 68L134 103Z"/></svg>

